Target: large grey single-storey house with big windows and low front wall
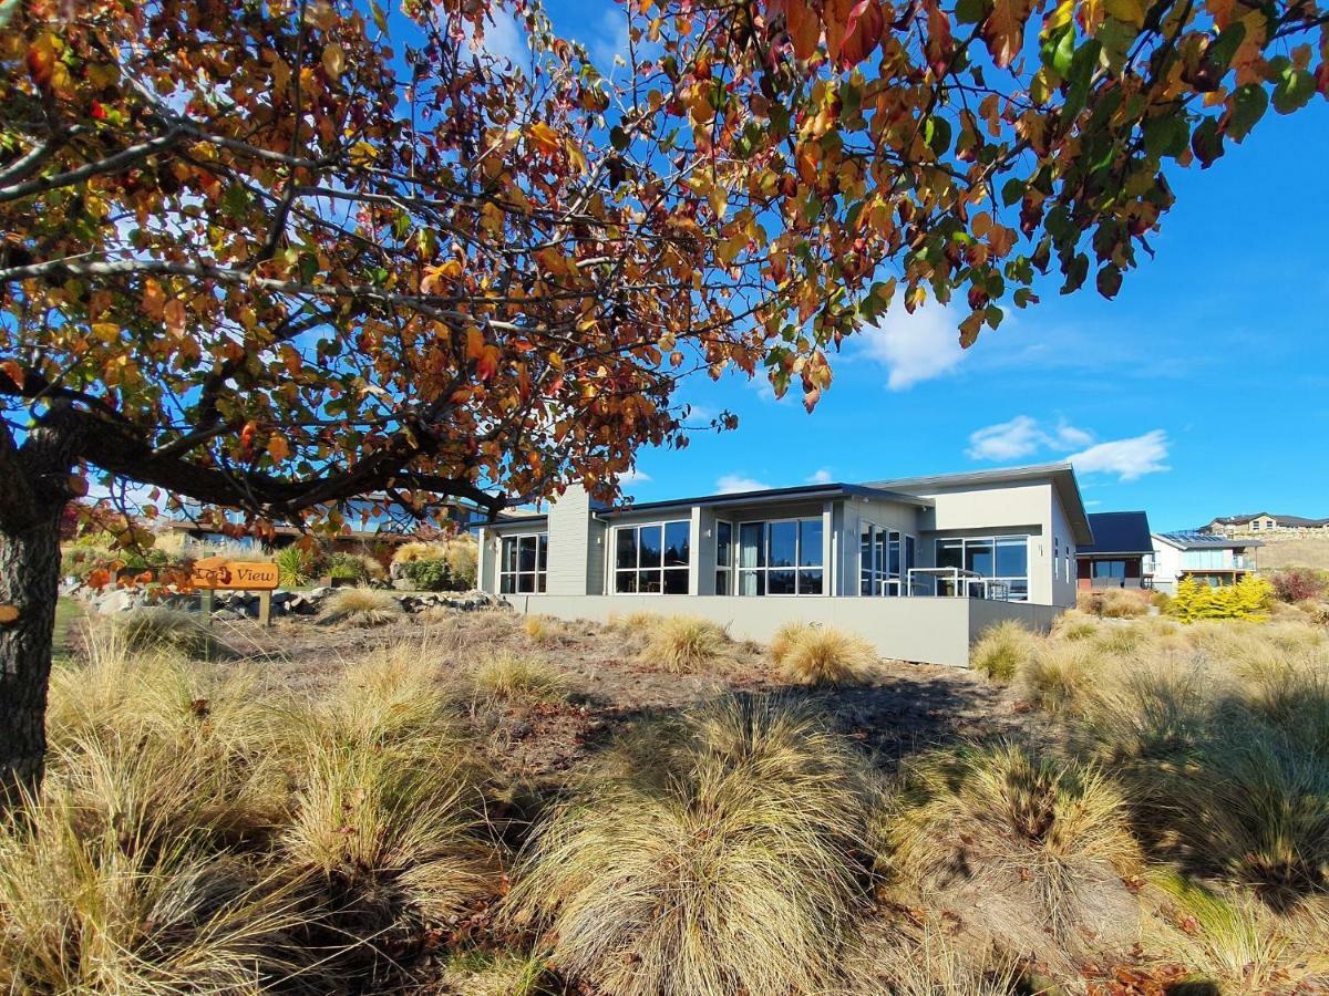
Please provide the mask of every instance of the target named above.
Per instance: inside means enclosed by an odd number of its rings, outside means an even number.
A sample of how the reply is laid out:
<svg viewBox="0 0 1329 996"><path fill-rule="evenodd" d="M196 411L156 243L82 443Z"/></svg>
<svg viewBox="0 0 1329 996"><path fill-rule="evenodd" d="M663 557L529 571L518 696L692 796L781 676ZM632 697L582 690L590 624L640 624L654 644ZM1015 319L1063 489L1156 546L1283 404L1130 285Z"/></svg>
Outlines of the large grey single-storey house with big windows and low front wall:
<svg viewBox="0 0 1329 996"><path fill-rule="evenodd" d="M565 619L682 612L756 640L804 620L966 664L991 623L1045 627L1074 604L1091 542L1069 463L615 507L571 487L545 515L480 530L480 586Z"/></svg>

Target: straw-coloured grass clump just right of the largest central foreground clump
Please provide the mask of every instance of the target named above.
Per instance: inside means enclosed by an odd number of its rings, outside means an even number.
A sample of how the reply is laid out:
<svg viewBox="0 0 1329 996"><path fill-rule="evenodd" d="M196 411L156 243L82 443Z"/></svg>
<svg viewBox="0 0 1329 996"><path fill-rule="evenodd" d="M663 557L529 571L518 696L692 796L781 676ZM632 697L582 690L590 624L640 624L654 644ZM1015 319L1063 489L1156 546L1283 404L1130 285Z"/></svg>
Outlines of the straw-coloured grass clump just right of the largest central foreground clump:
<svg viewBox="0 0 1329 996"><path fill-rule="evenodd" d="M1119 875L1139 865L1130 813L1104 774L1003 744L928 754L908 768L890 826L893 865L925 890L982 907L1015 940L1130 932ZM1126 918L1128 919L1128 918Z"/></svg>

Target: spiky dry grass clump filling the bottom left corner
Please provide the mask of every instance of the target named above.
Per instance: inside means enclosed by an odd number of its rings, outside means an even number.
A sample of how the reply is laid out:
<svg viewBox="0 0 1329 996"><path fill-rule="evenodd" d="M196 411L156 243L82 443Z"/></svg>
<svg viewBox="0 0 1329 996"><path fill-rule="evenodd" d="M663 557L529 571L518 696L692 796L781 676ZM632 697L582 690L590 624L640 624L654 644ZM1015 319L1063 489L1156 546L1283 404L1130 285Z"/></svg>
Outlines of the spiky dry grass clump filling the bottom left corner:
<svg viewBox="0 0 1329 996"><path fill-rule="evenodd" d="M0 826L0 977L33 993L256 993L306 912L243 862L140 817L89 830L47 789Z"/></svg>

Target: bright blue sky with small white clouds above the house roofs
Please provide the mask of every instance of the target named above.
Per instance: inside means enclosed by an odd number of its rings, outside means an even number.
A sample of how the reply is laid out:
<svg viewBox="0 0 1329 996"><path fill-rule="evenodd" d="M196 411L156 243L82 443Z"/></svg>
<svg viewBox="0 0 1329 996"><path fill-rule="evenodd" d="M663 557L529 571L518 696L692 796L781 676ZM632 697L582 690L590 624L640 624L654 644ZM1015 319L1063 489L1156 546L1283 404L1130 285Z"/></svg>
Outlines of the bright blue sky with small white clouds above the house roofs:
<svg viewBox="0 0 1329 996"><path fill-rule="evenodd" d="M552 3L597 58L623 20ZM489 44L498 46L500 37ZM902 308L849 340L813 414L764 380L696 380L731 433L643 450L639 501L804 481L865 481L1071 458L1090 511L1147 509L1158 529L1213 515L1329 515L1329 105L1269 116L1211 169L1170 177L1156 256L1115 300L1091 288L1011 309L969 351L962 312Z"/></svg>

